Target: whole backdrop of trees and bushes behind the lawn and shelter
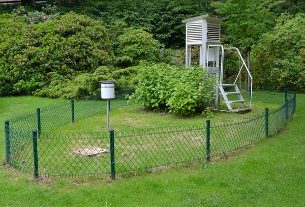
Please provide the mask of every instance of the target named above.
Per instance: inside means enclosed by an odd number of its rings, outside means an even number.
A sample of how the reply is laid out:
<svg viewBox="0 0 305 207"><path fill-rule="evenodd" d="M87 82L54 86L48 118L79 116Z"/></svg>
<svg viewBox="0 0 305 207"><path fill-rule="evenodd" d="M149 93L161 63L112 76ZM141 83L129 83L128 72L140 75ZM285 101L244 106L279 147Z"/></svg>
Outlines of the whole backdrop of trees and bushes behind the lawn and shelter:
<svg viewBox="0 0 305 207"><path fill-rule="evenodd" d="M205 13L225 16L222 44L238 46L248 56L255 86L304 91L304 14L299 13L304 9L305 3L297 0L89 0L1 6L0 96L95 94L98 87L88 85L98 81L93 76L100 66L107 70L100 71L99 78L135 88L134 66L140 61L173 64L171 51L185 47L181 20ZM198 53L193 55L196 64ZM225 55L224 74L231 79L238 58Z"/></svg>

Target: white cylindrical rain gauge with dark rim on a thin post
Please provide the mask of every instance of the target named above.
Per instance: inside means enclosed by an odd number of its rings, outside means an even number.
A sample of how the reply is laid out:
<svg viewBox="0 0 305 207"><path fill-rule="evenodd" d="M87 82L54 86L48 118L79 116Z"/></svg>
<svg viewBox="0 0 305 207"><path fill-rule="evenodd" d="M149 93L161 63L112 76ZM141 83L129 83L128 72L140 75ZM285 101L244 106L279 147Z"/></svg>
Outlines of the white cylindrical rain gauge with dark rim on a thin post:
<svg viewBox="0 0 305 207"><path fill-rule="evenodd" d="M100 82L102 99L107 100L107 128L109 128L109 101L114 99L115 80L102 80Z"/></svg>

